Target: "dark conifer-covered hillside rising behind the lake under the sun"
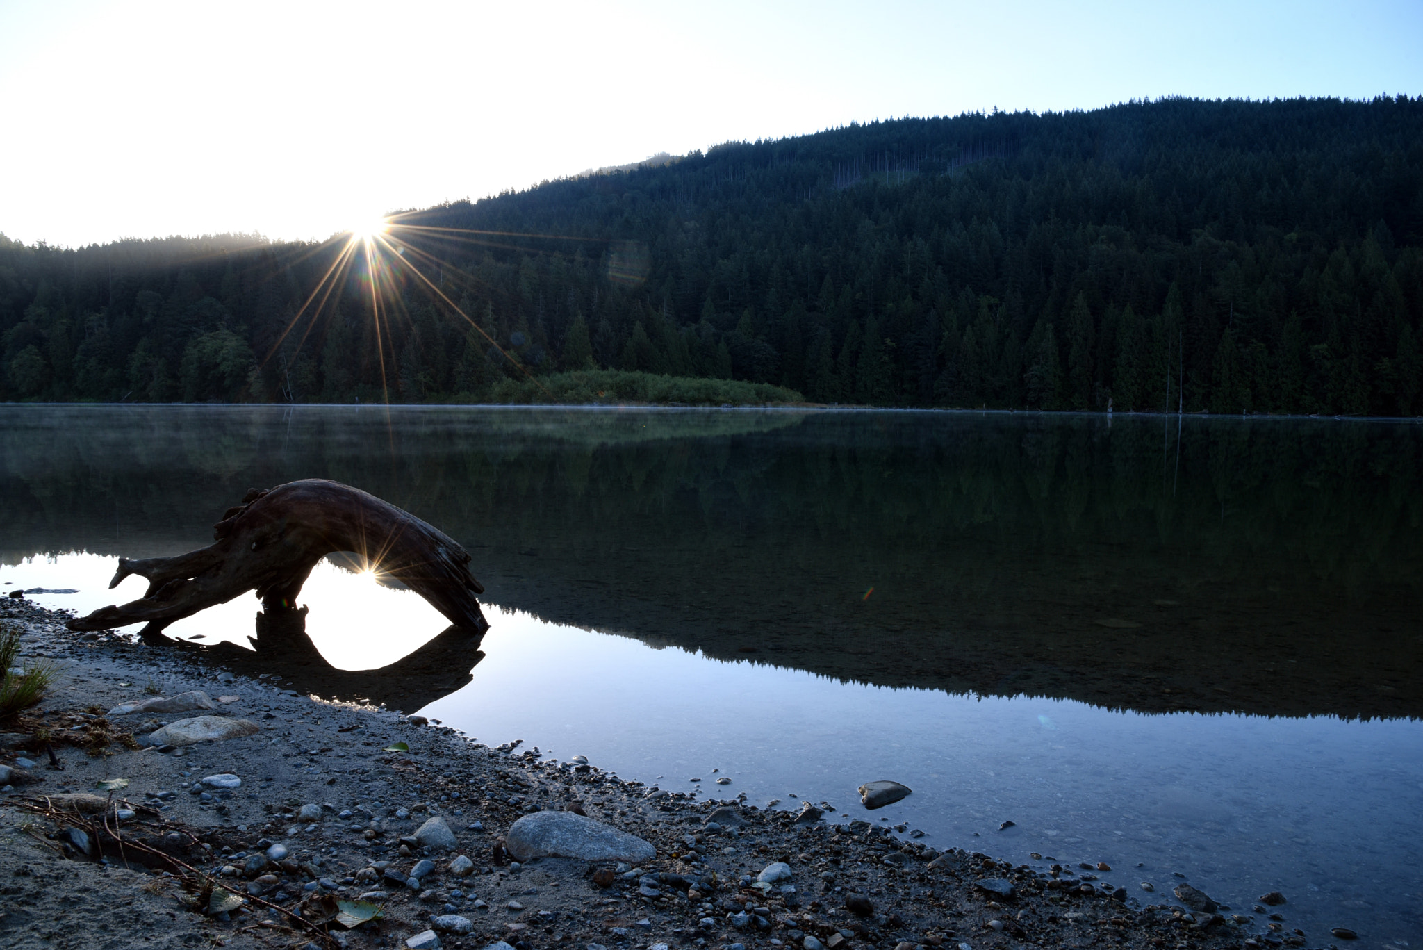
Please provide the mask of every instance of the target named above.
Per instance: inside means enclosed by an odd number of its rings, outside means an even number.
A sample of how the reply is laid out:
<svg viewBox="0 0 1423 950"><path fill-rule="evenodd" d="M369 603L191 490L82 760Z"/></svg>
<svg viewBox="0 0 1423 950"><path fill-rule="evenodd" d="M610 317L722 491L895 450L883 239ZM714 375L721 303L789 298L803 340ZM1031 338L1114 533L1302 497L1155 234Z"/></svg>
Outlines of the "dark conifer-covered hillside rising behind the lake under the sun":
<svg viewBox="0 0 1423 950"><path fill-rule="evenodd" d="M1423 412L1423 98L895 120L401 221L430 229L391 235L380 333L364 263L303 310L339 242L0 238L0 397L468 400L598 366L827 403Z"/></svg>

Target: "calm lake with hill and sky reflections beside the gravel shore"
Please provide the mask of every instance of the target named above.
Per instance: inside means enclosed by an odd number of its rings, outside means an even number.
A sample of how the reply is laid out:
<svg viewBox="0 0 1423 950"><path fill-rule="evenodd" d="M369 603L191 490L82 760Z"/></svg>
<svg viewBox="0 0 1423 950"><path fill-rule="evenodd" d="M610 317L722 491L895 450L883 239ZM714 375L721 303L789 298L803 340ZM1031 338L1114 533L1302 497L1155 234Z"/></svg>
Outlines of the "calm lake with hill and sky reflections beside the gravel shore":
<svg viewBox="0 0 1423 950"><path fill-rule="evenodd" d="M464 544L490 632L323 564L307 614L242 597L184 649L709 798L845 820L895 779L868 818L936 847L1279 889L1311 943L1423 934L1423 426L4 406L0 583L137 598L118 555L303 477Z"/></svg>

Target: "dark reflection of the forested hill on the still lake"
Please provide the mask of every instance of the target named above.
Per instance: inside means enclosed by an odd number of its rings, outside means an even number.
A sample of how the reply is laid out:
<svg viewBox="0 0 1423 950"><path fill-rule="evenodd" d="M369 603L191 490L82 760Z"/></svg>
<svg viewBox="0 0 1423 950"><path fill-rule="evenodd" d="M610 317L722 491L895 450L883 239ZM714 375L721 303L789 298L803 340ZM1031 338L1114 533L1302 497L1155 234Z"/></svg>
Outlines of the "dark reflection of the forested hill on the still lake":
<svg viewBox="0 0 1423 950"><path fill-rule="evenodd" d="M1417 426L943 413L0 409L0 557L188 550L357 484L492 602L851 682L1423 715ZM867 597L867 593L872 593Z"/></svg>

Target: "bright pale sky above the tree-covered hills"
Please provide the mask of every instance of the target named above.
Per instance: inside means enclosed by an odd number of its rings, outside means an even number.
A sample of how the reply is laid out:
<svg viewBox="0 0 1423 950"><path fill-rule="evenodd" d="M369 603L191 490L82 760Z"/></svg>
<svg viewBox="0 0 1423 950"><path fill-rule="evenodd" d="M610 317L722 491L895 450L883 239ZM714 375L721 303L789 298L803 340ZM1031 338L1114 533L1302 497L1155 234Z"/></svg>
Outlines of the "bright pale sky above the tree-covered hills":
<svg viewBox="0 0 1423 950"><path fill-rule="evenodd" d="M1423 1L0 0L0 232L327 238L852 121L1423 94Z"/></svg>

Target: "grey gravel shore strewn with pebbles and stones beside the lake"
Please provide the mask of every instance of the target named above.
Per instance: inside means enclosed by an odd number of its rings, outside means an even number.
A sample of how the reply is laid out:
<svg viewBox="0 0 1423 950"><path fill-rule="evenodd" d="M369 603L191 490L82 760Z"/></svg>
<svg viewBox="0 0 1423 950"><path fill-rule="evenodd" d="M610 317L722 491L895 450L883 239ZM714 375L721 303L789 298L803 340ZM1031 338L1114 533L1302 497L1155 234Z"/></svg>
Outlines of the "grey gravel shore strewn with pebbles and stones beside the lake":
<svg viewBox="0 0 1423 950"><path fill-rule="evenodd" d="M13 769L0 793L0 934L13 947L1254 950L1335 939L1295 931L1288 904L1215 907L1183 890L1192 910L1127 869L939 852L882 823L699 800L521 743L485 748L418 716L300 695L279 671L233 674L199 648L73 634L67 618L0 601L0 621L24 630L23 658L61 669L44 702L0 724L0 763ZM191 691L213 708L107 715ZM192 716L255 729L152 745L155 729ZM511 860L511 826L539 810L586 815L656 856ZM337 902L381 916L316 926Z"/></svg>

